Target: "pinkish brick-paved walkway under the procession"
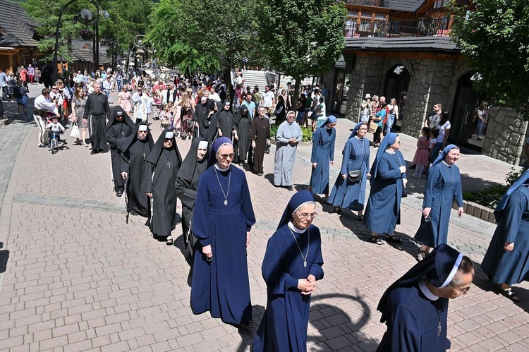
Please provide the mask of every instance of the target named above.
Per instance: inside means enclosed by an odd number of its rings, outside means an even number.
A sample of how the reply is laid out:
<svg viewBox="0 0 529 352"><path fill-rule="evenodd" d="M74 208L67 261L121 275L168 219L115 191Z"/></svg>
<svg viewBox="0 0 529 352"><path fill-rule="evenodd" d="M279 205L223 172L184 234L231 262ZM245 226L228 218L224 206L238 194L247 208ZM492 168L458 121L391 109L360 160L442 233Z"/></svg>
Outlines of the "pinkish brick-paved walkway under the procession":
<svg viewBox="0 0 529 352"><path fill-rule="evenodd" d="M333 181L353 123L339 119L337 127ZM159 133L157 123L154 131ZM411 160L415 140L401 137ZM0 128L1 351L249 350L255 329L238 331L191 312L180 227L175 245L167 246L149 236L142 219L125 224L123 204L111 192L108 154L90 155L67 138L69 149L51 155L36 140L35 123L16 120ZM183 155L189 146L178 142ZM308 158L310 147L300 147L293 171L298 189L310 177ZM480 155L462 155L458 165L466 189L502 182L510 168ZM257 324L266 305L260 265L267 238L292 195L272 186L272 169L273 151L265 157L264 177L246 174L257 216L248 248ZM312 296L309 351L375 351L385 331L379 298L415 264L409 236L420 221L423 183L410 178L411 195L402 202L397 232L406 239L403 245L374 245L351 212L339 216L329 205L317 205L325 277ZM449 243L480 263L493 231L493 224L453 212ZM515 288L523 299L518 304L499 296L479 265L474 284L450 304L452 349L526 351L529 284Z"/></svg>

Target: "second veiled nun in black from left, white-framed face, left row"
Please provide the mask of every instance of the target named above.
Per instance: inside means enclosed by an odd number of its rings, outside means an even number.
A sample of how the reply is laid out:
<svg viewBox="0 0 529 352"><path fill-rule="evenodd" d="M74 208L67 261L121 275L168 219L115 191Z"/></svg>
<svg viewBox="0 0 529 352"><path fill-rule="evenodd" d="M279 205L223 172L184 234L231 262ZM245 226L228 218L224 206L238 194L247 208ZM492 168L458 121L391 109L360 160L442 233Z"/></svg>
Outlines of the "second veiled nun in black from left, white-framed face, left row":
<svg viewBox="0 0 529 352"><path fill-rule="evenodd" d="M136 125L128 138L118 140L118 150L121 150L121 176L126 178L127 220L128 214L148 217L149 199L141 191L145 165L154 141L146 123Z"/></svg>

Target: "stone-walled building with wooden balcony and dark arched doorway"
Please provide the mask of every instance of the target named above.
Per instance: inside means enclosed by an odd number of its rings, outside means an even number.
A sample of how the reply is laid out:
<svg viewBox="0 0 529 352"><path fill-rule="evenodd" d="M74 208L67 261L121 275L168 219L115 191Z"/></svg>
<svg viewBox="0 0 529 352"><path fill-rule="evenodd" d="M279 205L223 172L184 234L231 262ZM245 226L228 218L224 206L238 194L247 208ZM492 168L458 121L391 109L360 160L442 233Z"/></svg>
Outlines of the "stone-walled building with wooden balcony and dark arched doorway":
<svg viewBox="0 0 529 352"><path fill-rule="evenodd" d="M460 0L460 5L469 1ZM447 0L346 0L346 46L335 67L322 77L328 111L358 121L366 94L395 98L396 130L418 137L434 104L451 115L449 142L518 164L528 122L509 109L492 107L486 135L477 140L475 109L482 99L479 78L461 60L450 40L453 18Z"/></svg>

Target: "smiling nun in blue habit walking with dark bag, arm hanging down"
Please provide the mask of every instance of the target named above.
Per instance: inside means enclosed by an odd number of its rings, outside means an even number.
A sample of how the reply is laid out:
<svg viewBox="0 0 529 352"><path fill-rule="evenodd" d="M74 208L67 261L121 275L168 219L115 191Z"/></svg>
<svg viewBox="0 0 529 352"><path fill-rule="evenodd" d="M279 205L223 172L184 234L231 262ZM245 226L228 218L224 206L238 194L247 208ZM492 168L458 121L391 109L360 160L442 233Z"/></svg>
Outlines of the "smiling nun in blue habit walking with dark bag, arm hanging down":
<svg viewBox="0 0 529 352"><path fill-rule="evenodd" d="M459 148L451 144L444 148L430 166L426 176L420 227L415 233L415 239L422 242L417 260L422 260L432 248L448 241L448 225L454 200L458 205L458 216L461 217L463 214L461 174L459 174L459 168L456 166L458 159ZM431 227L429 224L425 224L428 219Z"/></svg>

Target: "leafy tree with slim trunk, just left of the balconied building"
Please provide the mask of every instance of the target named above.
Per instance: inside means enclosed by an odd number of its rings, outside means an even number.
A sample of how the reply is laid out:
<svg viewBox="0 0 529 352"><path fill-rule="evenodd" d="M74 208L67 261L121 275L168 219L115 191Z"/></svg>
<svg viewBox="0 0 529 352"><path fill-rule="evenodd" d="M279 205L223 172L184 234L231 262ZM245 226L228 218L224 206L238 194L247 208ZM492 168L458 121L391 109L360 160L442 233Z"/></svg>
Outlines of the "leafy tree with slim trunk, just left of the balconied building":
<svg viewBox="0 0 529 352"><path fill-rule="evenodd" d="M346 8L335 0L265 0L260 8L260 43L272 68L300 81L332 67L345 46Z"/></svg>

